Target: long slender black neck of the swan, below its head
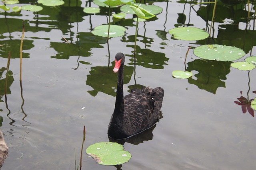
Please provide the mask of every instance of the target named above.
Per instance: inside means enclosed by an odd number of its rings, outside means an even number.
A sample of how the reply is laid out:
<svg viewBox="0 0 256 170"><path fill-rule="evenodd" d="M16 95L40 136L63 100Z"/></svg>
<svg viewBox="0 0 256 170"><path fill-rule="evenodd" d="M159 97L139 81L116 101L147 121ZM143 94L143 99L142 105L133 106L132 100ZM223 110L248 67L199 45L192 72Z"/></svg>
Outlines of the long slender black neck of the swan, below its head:
<svg viewBox="0 0 256 170"><path fill-rule="evenodd" d="M117 79L117 89L116 89L116 104L114 109L114 115L120 120L120 123L123 124L124 120L124 64L122 64L118 70L118 79Z"/></svg>

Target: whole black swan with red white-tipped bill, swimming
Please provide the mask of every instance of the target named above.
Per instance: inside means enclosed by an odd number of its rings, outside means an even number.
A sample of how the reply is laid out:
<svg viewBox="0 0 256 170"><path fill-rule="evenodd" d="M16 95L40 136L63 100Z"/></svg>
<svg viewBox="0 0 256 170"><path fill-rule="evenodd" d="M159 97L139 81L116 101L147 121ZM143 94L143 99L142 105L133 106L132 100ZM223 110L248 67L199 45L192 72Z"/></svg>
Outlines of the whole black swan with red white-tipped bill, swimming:
<svg viewBox="0 0 256 170"><path fill-rule="evenodd" d="M164 89L157 87L133 89L124 96L123 73L124 54L117 53L113 71L118 72L116 104L108 125L108 136L113 139L126 139L136 135L153 125L159 119L160 108L164 97Z"/></svg>

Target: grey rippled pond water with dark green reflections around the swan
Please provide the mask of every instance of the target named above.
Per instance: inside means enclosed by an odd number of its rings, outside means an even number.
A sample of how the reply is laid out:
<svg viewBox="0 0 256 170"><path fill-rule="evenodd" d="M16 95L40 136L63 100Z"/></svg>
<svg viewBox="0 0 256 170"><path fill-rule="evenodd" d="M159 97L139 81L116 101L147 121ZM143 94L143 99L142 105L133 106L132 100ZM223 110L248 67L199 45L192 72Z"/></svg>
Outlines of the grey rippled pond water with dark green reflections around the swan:
<svg viewBox="0 0 256 170"><path fill-rule="evenodd" d="M64 6L43 6L38 14L1 10L0 113L1 129L9 146L1 169L76 169L84 125L83 170L255 169L256 121L234 101L238 101L241 91L246 99L256 97L253 93L256 70L241 71L230 67L230 62L200 60L192 50L206 44L206 40L182 41L168 34L169 29L183 23L209 30L204 20L207 16L198 16L207 10L207 5L194 6L193 10L184 2L153 3L162 7L163 12L138 25L136 67L133 60L136 23L131 20L132 15L117 22L126 27L126 34L111 38L107 44L106 38L91 33L94 27L108 22L106 12L85 14L82 10L88 3L84 1L65 0ZM243 49L246 55L239 61L256 55L254 20L245 31L244 20L232 18L246 13L246 2L219 6L223 13L217 10L214 40L211 40ZM211 16L208 18L211 20ZM25 33L21 91L22 20ZM72 44L65 43L62 37ZM4 84L9 50L12 73L8 76L6 100ZM114 110L117 76L112 69L118 52L126 55L124 94L136 84L164 88L162 119L155 127L122 143L132 154L129 162L103 166L85 150L89 145L110 140L107 129ZM185 67L193 72L192 78L172 77L173 70Z"/></svg>

